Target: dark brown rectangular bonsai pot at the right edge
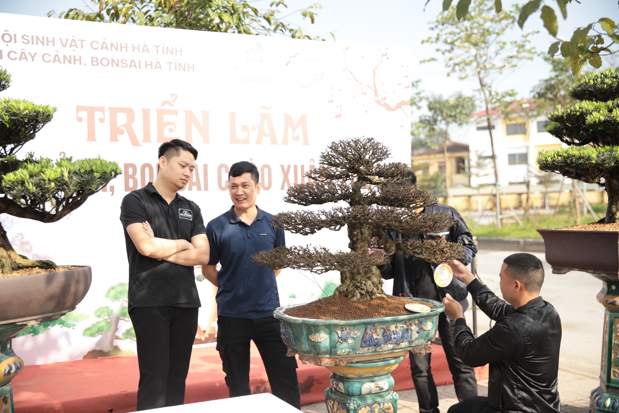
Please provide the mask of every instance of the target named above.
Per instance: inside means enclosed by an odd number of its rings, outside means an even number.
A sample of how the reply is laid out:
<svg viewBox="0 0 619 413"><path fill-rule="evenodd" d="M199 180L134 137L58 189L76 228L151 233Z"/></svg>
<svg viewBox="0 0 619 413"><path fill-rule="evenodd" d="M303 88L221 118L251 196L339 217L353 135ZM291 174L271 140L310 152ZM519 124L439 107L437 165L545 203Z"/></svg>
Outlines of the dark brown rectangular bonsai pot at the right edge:
<svg viewBox="0 0 619 413"><path fill-rule="evenodd" d="M619 279L619 231L537 230L555 274L584 271Z"/></svg>

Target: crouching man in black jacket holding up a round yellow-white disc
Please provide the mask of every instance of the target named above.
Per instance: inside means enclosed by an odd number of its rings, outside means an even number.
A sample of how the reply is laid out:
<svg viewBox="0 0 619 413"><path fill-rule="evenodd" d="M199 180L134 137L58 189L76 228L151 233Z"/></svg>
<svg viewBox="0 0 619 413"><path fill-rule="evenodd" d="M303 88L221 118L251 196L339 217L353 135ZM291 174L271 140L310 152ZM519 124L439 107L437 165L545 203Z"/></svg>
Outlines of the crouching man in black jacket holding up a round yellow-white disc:
<svg viewBox="0 0 619 413"><path fill-rule="evenodd" d="M561 320L552 304L539 292L544 271L532 254L517 253L501 266L501 293L496 297L467 267L449 264L462 279L475 303L495 326L473 337L462 318L460 304L443 300L445 313L456 320L454 341L462 361L471 367L490 363L488 397L477 396L454 404L448 413L556 413L561 411L557 391Z"/></svg>

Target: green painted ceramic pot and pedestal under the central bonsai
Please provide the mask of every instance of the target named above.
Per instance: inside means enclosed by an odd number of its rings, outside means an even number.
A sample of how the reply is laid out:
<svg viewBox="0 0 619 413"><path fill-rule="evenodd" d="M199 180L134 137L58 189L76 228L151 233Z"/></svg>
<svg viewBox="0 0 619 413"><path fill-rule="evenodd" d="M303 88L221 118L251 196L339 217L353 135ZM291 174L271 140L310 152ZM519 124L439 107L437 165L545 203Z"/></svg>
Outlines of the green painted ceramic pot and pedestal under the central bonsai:
<svg viewBox="0 0 619 413"><path fill-rule="evenodd" d="M426 354L436 335L444 306L436 301L411 299L430 306L428 313L364 318L315 320L288 316L294 305L275 310L288 355L331 370L331 387L324 392L329 413L396 413L398 395L391 389L391 372L409 351Z"/></svg>

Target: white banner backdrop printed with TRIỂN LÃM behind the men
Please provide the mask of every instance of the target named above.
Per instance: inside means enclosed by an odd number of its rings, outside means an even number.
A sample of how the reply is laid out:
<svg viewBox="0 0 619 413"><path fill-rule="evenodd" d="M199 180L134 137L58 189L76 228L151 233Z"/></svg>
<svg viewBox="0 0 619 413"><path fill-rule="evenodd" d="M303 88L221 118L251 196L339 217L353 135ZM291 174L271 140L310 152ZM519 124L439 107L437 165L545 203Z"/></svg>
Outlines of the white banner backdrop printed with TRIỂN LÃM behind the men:
<svg viewBox="0 0 619 413"><path fill-rule="evenodd" d="M232 205L227 171L239 160L258 166L257 203L274 214L297 207L282 201L285 189L305 181L334 140L375 137L392 161L410 162L409 59L406 48L0 14L0 66L12 74L2 97L58 108L19 155L101 156L123 168L59 222L2 216L19 253L90 265L93 274L77 308L90 318L75 329L18 337L15 352L40 364L81 359L93 348L98 338L84 329L99 320L99 306L113 306L106 290L128 279L119 206L154 180L161 142L180 138L198 150L193 182L181 194L199 204L205 223ZM288 245L347 247L345 231L286 237ZM315 279L324 285L338 274ZM282 305L321 293L311 274L285 269L277 282ZM198 289L206 329L212 289L207 281ZM121 321L118 335L129 326ZM135 350L131 340L116 345Z"/></svg>

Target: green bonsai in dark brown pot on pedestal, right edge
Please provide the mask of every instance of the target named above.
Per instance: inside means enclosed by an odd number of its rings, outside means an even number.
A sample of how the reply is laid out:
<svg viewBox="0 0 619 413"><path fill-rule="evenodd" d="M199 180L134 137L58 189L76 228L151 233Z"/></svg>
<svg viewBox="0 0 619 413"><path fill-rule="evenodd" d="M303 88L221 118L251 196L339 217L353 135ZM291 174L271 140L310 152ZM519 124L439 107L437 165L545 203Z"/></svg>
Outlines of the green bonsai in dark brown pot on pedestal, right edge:
<svg viewBox="0 0 619 413"><path fill-rule="evenodd" d="M548 132L569 145L542 152L540 170L604 186L604 219L575 227L538 230L556 274L589 272L602 280L597 300L605 307L600 386L591 411L619 408L619 74L612 68L587 74L569 92L574 105L548 116Z"/></svg>

